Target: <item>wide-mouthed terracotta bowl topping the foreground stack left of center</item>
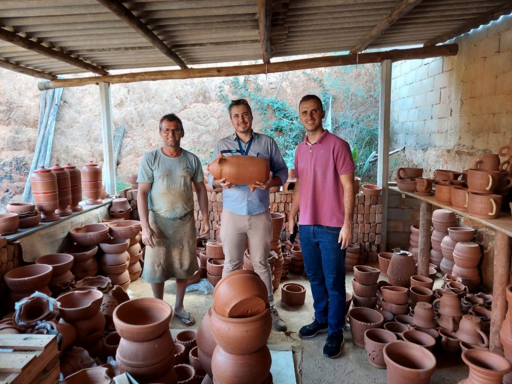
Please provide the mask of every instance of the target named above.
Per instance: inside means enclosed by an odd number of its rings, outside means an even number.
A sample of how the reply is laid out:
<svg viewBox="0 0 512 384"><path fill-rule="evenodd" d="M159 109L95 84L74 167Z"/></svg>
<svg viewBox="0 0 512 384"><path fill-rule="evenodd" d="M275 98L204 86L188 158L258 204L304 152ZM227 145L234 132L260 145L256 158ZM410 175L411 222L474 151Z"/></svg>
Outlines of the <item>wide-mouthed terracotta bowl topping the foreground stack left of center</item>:
<svg viewBox="0 0 512 384"><path fill-rule="evenodd" d="M116 307L114 325L117 333L132 342L151 340L169 328L173 309L153 297L133 298Z"/></svg>

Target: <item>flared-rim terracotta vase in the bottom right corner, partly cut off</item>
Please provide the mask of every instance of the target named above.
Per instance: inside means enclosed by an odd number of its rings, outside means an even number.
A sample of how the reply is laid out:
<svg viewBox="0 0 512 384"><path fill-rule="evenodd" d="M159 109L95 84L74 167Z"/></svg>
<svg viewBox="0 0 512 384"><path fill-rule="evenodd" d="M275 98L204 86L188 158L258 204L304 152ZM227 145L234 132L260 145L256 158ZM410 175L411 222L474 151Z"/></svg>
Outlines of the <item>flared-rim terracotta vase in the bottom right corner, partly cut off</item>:
<svg viewBox="0 0 512 384"><path fill-rule="evenodd" d="M464 351L462 360L470 367L470 376L463 380L466 384L501 384L512 369L506 358L485 350Z"/></svg>

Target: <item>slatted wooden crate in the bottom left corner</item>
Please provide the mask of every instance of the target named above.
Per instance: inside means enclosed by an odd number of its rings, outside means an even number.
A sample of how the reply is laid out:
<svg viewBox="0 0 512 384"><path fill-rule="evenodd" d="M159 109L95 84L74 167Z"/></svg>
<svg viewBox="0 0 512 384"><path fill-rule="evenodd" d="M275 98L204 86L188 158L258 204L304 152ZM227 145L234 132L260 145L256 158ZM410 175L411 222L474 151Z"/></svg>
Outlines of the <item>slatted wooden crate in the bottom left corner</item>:
<svg viewBox="0 0 512 384"><path fill-rule="evenodd" d="M0 384L56 384L59 373L54 335L0 334Z"/></svg>

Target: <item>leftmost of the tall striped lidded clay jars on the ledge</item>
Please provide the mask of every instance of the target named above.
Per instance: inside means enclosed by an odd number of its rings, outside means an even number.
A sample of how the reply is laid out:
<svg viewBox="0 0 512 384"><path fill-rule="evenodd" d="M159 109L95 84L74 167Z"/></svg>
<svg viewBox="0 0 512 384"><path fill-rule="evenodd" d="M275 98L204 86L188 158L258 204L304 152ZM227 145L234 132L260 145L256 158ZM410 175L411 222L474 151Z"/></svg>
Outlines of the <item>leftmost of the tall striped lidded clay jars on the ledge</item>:
<svg viewBox="0 0 512 384"><path fill-rule="evenodd" d="M30 175L30 186L35 207L41 212L41 221L59 220L60 216L55 214L55 210L59 208L57 177L55 174L50 169L40 166Z"/></svg>

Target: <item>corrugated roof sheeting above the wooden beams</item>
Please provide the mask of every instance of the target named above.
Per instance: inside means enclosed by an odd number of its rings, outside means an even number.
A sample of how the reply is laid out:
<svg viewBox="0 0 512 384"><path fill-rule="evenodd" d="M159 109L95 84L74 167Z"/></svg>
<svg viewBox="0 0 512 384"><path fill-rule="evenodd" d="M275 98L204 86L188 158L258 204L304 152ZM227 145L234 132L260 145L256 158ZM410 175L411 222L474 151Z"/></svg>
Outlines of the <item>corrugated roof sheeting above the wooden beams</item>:
<svg viewBox="0 0 512 384"><path fill-rule="evenodd" d="M166 47L158 49L111 10L119 4ZM101 73L176 66L173 55L182 67L261 60L265 33L259 18L265 7L270 56L280 57L424 44L512 6L510 0L4 0L0 66L66 75L94 67ZM50 50L39 52L34 45ZM50 57L55 50L71 61Z"/></svg>

